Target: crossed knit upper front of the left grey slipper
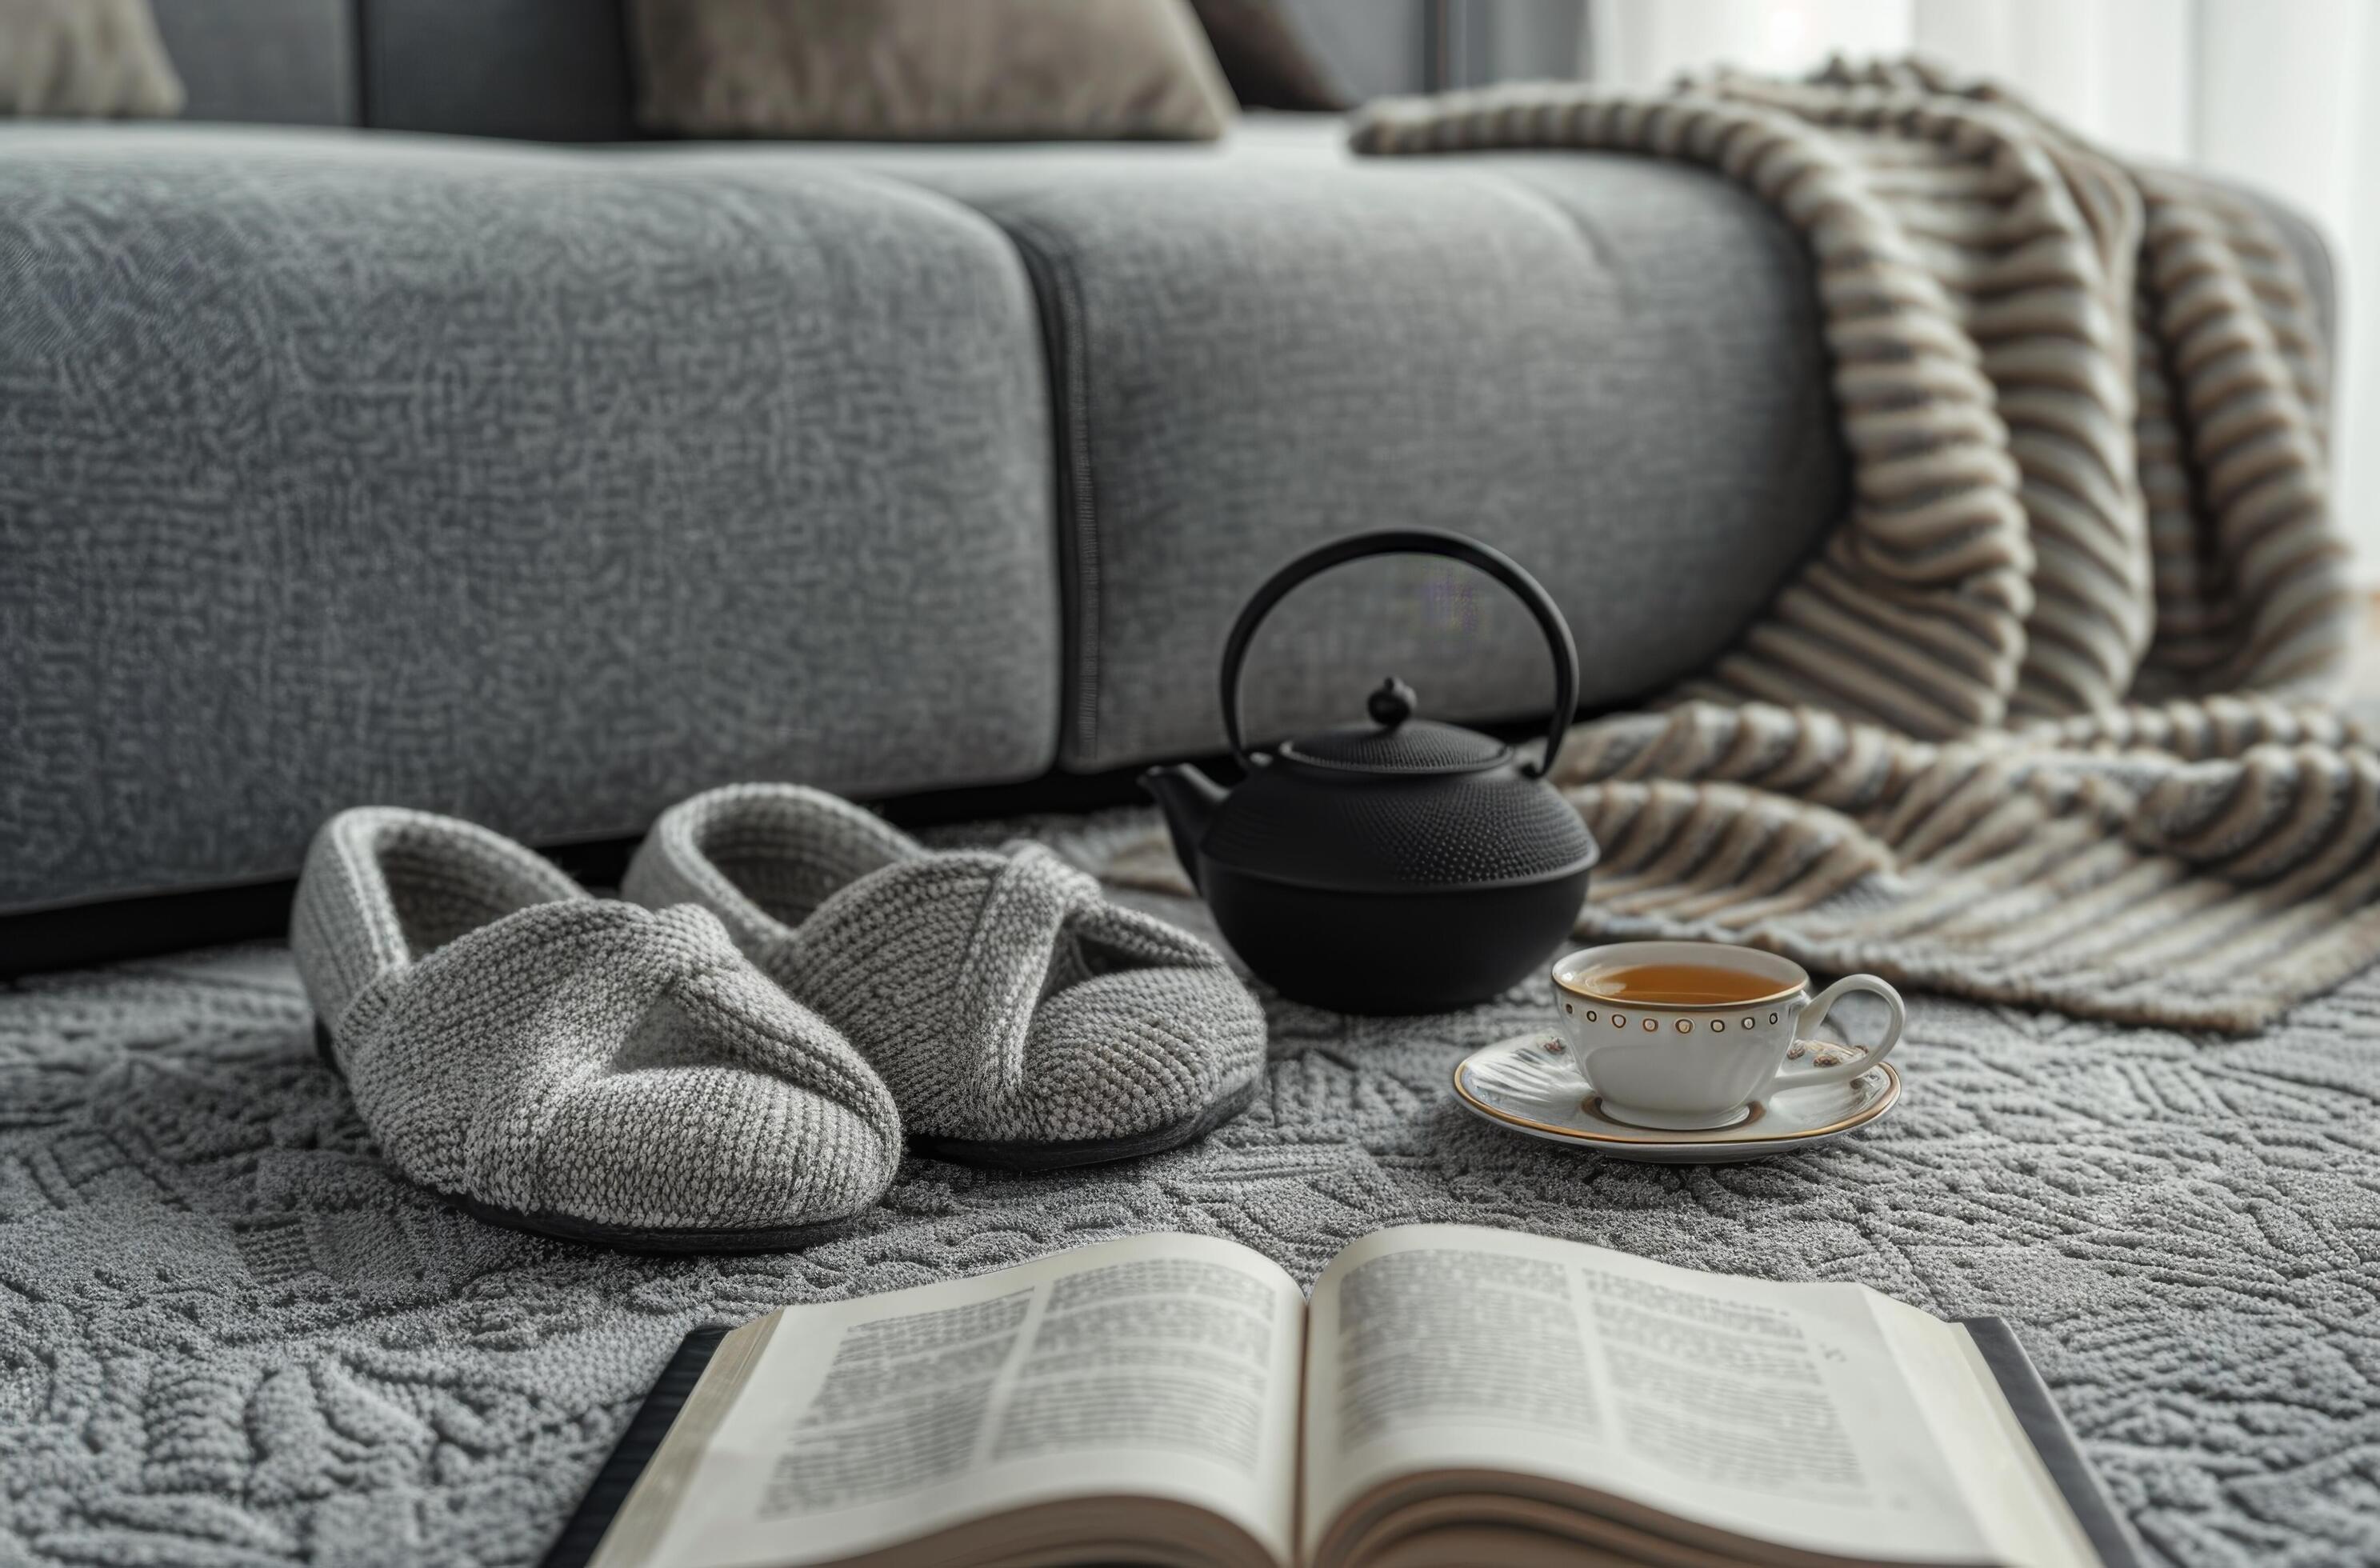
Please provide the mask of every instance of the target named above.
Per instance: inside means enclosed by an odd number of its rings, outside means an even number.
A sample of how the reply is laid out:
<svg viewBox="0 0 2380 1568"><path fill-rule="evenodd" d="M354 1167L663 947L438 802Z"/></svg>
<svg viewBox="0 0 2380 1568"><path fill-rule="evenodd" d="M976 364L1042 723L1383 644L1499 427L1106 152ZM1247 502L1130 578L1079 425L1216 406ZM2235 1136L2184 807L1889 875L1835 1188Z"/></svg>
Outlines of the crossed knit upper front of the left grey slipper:
<svg viewBox="0 0 2380 1568"><path fill-rule="evenodd" d="M788 1199L847 1213L897 1149L897 1111L850 1045L685 904L545 904L462 935L347 1061L383 1144L521 1213L593 1204L647 1228L783 1223Z"/></svg>

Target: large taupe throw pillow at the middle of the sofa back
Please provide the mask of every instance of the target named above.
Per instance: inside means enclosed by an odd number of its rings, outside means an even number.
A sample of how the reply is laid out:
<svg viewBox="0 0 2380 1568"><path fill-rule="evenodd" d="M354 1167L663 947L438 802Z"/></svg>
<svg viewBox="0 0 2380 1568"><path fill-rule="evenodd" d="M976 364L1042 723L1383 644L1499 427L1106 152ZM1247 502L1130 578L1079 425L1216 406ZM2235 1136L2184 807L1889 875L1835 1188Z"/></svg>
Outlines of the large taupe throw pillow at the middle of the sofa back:
<svg viewBox="0 0 2380 1568"><path fill-rule="evenodd" d="M638 119L678 136L1211 140L1185 0L633 0Z"/></svg>

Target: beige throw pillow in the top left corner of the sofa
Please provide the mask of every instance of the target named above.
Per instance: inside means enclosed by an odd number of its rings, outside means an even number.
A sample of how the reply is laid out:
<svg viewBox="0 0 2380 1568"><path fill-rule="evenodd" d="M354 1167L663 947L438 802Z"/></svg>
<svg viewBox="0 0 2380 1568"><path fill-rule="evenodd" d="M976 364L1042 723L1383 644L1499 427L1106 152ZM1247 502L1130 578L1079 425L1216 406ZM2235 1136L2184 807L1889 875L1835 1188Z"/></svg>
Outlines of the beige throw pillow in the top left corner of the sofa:
<svg viewBox="0 0 2380 1568"><path fill-rule="evenodd" d="M181 114L148 0L0 0L0 114Z"/></svg>

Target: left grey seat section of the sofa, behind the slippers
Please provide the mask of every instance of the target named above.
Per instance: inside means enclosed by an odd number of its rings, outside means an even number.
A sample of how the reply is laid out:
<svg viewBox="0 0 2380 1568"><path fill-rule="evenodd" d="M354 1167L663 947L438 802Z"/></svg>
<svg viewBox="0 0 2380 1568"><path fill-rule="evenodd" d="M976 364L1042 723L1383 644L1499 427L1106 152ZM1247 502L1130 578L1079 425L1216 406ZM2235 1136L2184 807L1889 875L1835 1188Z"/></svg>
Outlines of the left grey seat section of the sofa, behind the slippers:
<svg viewBox="0 0 2380 1568"><path fill-rule="evenodd" d="M0 133L0 909L1054 749L1033 300L847 171Z"/></svg>

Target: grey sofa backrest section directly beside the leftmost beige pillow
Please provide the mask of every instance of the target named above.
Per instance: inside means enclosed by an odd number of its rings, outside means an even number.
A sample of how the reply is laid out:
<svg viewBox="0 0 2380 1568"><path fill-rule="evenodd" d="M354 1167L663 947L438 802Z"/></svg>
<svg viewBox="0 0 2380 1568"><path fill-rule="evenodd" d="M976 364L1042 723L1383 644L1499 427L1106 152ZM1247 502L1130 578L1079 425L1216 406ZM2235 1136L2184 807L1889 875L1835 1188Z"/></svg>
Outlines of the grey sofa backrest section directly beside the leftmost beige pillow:
<svg viewBox="0 0 2380 1568"><path fill-rule="evenodd" d="M183 119L352 126L355 0L150 0Z"/></svg>

